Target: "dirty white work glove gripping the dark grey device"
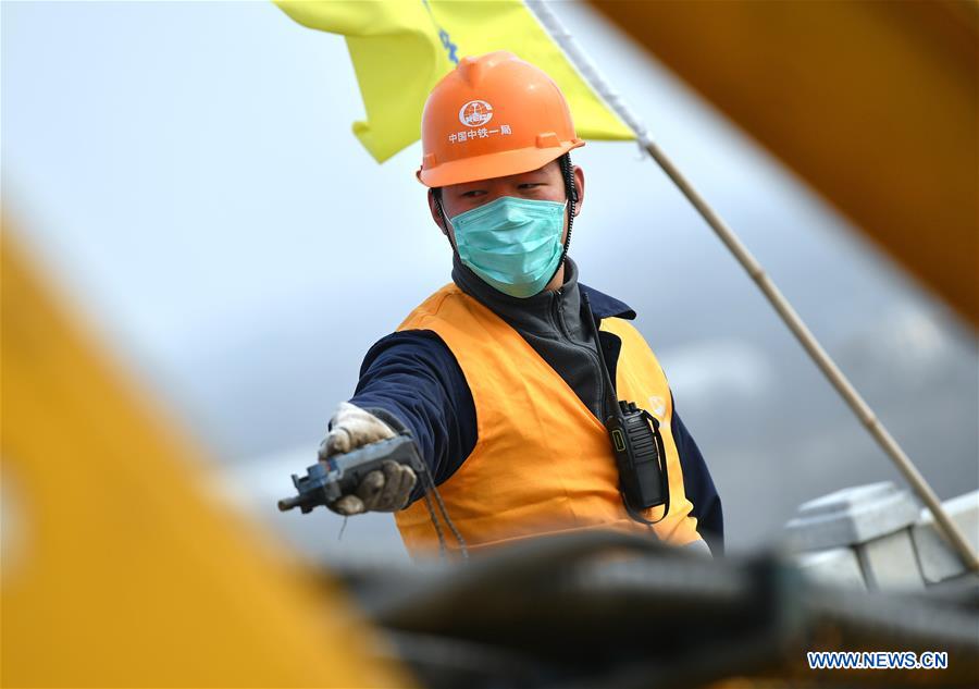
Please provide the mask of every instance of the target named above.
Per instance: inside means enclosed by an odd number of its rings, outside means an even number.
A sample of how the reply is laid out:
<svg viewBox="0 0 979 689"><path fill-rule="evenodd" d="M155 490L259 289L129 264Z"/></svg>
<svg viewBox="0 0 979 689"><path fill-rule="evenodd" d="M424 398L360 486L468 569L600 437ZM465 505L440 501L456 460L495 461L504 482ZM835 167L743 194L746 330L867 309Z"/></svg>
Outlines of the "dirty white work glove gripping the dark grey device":
<svg viewBox="0 0 979 689"><path fill-rule="evenodd" d="M320 462L395 435L387 423L370 411L342 402L330 420L330 432L320 443ZM397 462L383 462L381 469L363 477L354 494L344 495L327 507L344 516L362 512L397 512L408 504L417 480L411 467Z"/></svg>

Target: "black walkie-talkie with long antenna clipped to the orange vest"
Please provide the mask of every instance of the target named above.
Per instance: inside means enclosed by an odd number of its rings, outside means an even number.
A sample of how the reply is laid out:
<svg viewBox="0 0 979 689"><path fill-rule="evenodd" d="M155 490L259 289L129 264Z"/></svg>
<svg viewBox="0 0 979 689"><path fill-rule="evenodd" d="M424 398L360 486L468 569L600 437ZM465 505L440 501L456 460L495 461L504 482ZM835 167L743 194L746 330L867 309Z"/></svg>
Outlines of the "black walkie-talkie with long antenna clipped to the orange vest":
<svg viewBox="0 0 979 689"><path fill-rule="evenodd" d="M602 354L602 340L598 327L592 313L588 295L581 291L581 298L587 311L587 318L595 345L598 349L598 366L605 380L607 399L605 428L616 454L616 466L619 469L619 490L625 509L636 521L657 524L670 510L670 485L667 472L666 450L662 434L659 432L659 420L634 402L620 402L611 382L611 376ZM640 516L640 512L665 505L662 516L656 521Z"/></svg>

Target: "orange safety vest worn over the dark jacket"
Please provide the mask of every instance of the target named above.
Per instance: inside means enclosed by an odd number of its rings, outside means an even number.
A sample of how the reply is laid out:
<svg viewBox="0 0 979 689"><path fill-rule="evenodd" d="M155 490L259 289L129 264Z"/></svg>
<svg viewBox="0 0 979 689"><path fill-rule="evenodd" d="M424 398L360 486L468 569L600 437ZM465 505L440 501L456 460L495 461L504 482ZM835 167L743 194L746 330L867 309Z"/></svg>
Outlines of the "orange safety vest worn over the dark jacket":
<svg viewBox="0 0 979 689"><path fill-rule="evenodd" d="M670 514L654 527L631 519L619 494L618 470L605 426L513 328L449 284L398 328L434 331L455 355L472 392L476 445L438 491L470 551L560 531L617 529L656 532L685 545L701 540L683 491L670 429L672 401L659 362L629 322L606 318L602 330L622 341L616 369L620 399L660 421ZM649 520L662 507L642 513ZM424 501L395 513L412 555L438 546ZM447 531L443 525L443 531ZM458 547L450 534L446 545Z"/></svg>

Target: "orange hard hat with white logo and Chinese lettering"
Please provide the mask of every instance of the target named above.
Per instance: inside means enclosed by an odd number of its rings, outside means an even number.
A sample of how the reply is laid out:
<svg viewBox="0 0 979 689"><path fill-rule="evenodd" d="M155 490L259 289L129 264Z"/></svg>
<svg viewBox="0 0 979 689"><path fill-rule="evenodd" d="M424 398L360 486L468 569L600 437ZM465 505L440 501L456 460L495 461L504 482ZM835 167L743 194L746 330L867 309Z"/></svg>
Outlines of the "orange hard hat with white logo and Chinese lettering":
<svg viewBox="0 0 979 689"><path fill-rule="evenodd" d="M422 113L426 186L530 172L584 146L557 84L511 52L467 57L446 74Z"/></svg>

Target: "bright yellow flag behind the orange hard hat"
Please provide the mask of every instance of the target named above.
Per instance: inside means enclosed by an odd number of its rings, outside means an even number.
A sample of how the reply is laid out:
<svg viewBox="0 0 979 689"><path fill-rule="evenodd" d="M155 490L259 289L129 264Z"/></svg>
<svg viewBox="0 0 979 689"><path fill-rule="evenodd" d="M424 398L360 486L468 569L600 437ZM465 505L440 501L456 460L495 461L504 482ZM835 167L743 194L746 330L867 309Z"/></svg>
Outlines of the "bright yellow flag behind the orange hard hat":
<svg viewBox="0 0 979 689"><path fill-rule="evenodd" d="M383 162L421 136L432 87L463 56L509 50L563 91L582 138L635 138L581 78L521 0L324 0L276 4L298 23L343 34L367 110L354 133Z"/></svg>

